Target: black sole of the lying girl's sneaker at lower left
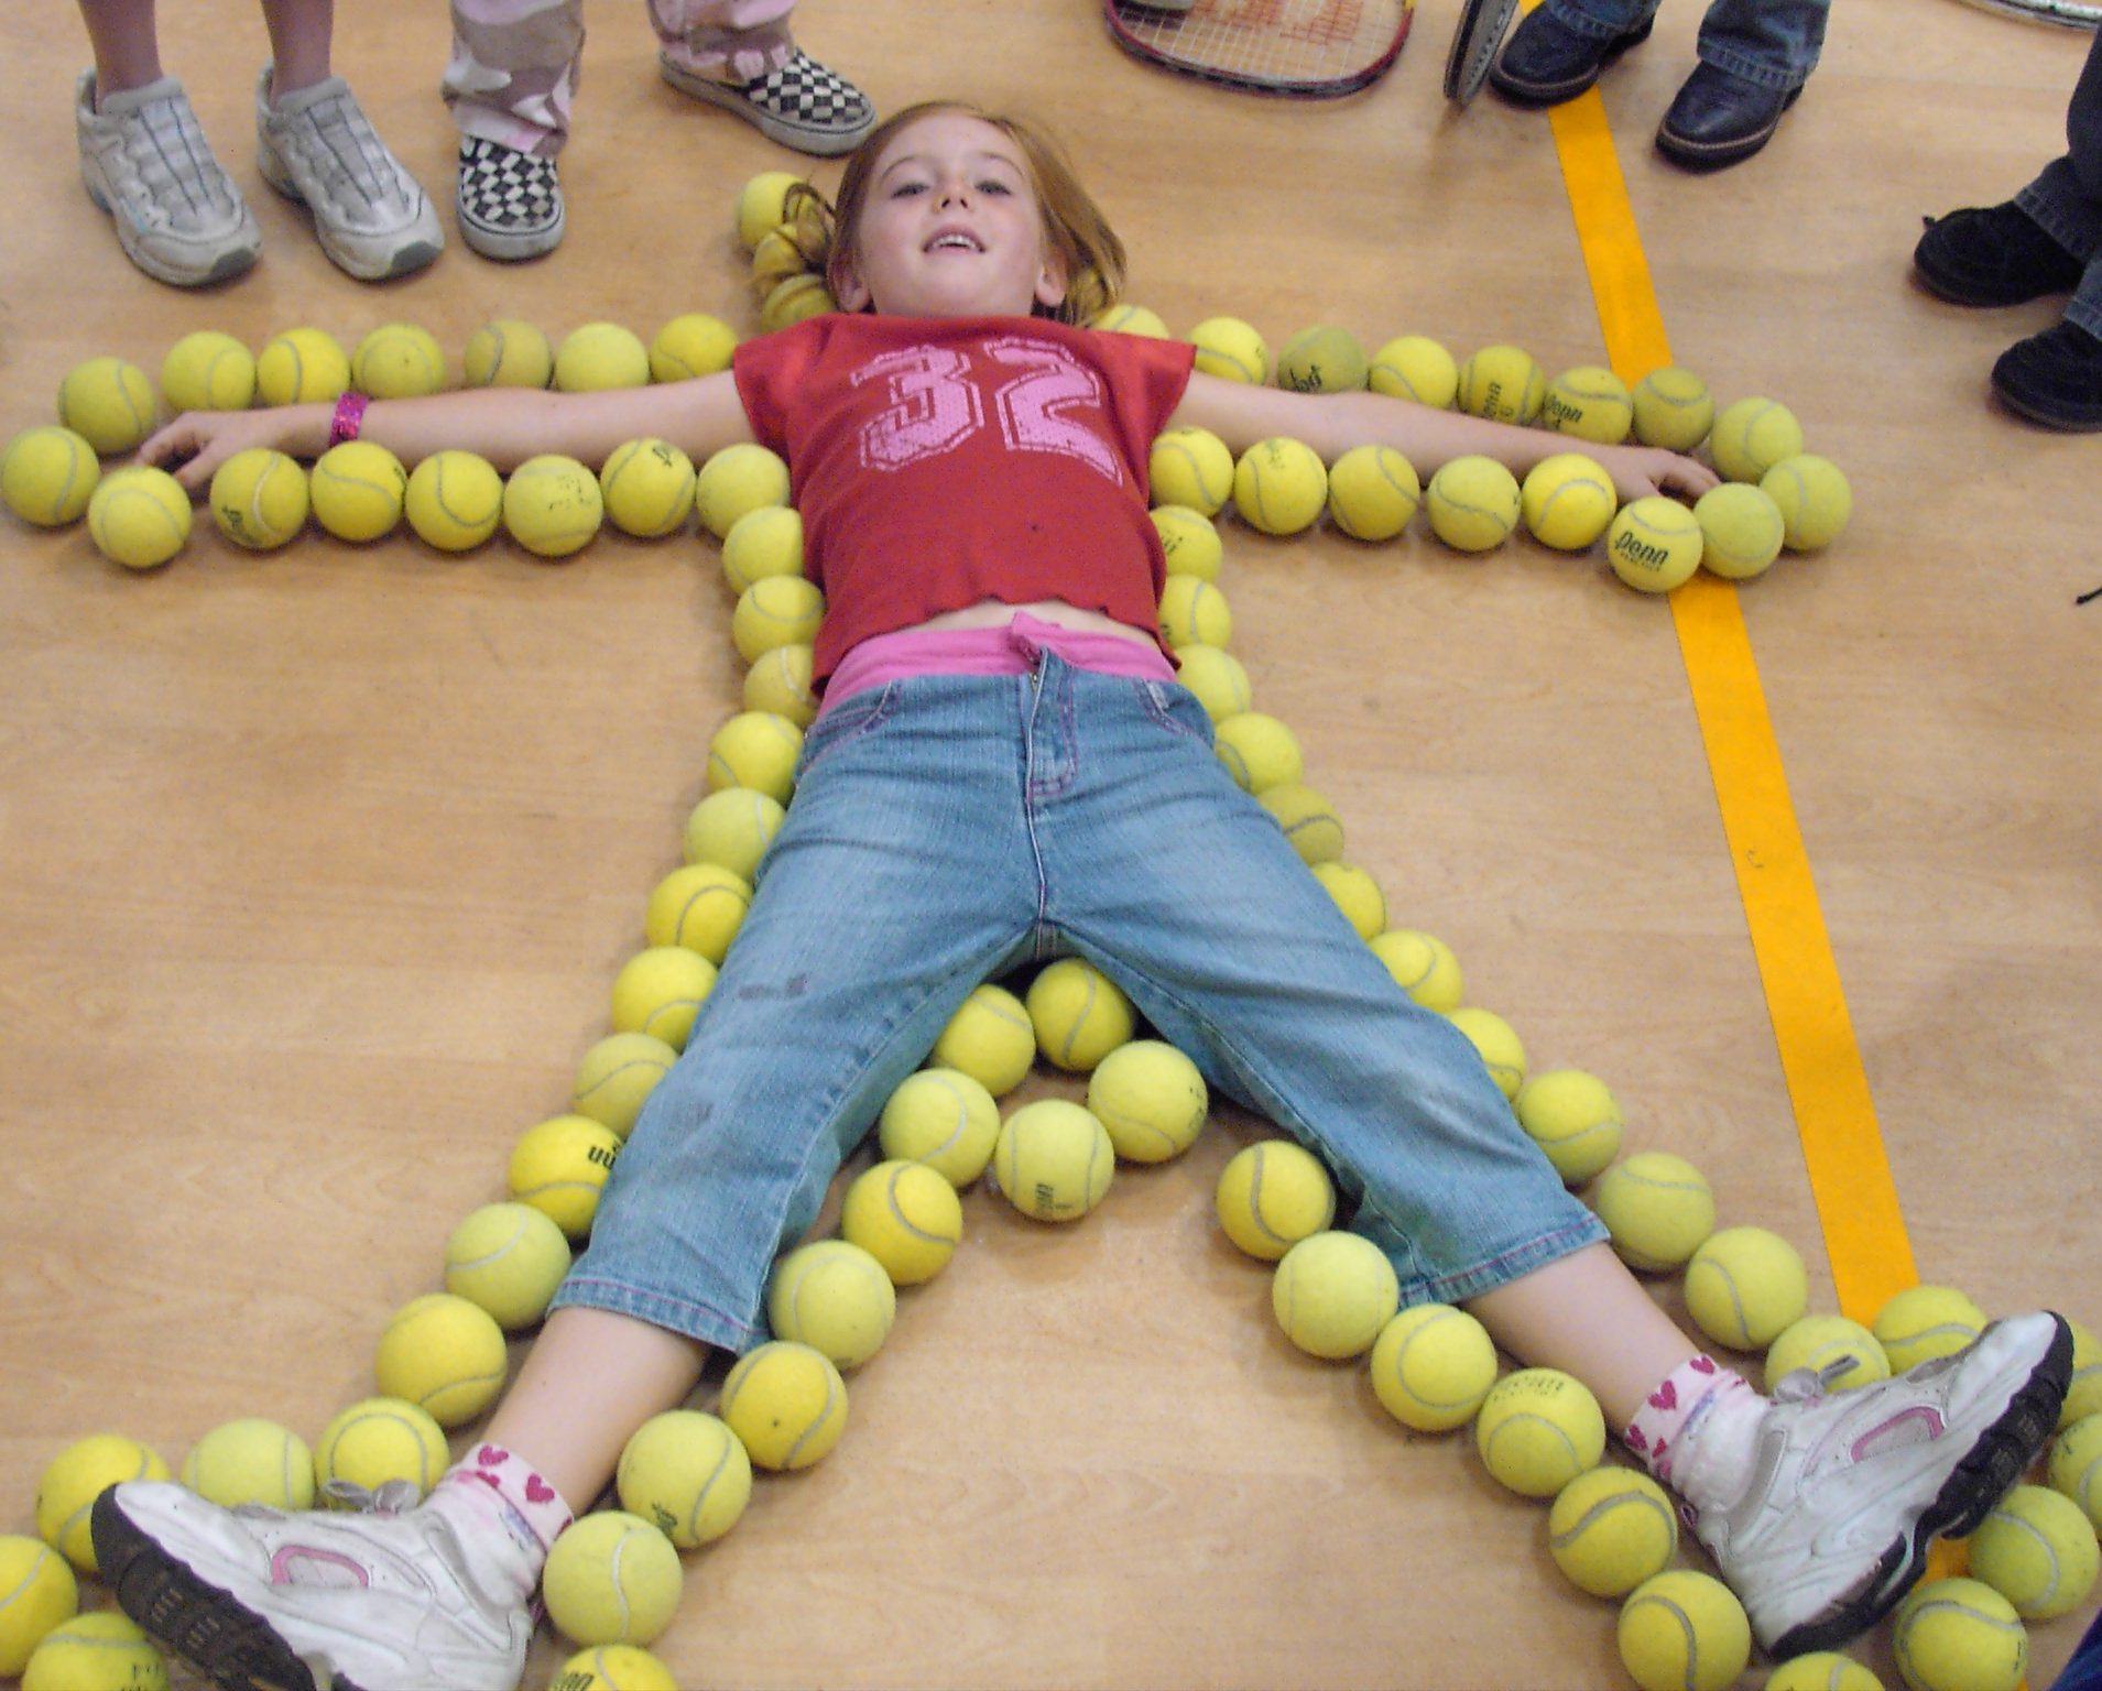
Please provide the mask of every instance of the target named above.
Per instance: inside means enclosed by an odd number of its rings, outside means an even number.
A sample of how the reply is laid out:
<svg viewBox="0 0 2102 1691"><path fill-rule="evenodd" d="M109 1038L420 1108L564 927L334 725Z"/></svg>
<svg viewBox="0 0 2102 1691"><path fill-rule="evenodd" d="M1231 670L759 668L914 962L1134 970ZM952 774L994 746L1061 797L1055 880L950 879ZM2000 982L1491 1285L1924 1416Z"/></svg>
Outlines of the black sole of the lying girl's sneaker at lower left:
<svg viewBox="0 0 2102 1691"><path fill-rule="evenodd" d="M95 1500L88 1531L118 1607L217 1685L227 1691L328 1691L269 1622L141 1531L118 1508L116 1487ZM357 1691L341 1676L332 1685Z"/></svg>

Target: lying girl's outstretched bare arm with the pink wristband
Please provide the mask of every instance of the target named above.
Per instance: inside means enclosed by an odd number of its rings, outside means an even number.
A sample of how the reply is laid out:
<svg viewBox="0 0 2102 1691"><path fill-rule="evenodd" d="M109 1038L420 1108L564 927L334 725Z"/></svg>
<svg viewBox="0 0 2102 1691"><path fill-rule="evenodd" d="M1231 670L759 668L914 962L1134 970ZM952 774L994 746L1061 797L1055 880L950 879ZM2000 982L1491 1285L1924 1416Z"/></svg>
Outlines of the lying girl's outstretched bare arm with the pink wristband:
<svg viewBox="0 0 2102 1691"><path fill-rule="evenodd" d="M189 492L202 492L235 452L269 445L294 458L328 447L332 403L271 405L256 412L185 412L139 447L139 462L174 471ZM687 382L612 389L607 393L534 393L523 389L456 389L427 399L374 399L357 437L378 441L404 464L433 452L465 447L509 471L538 452L561 452L597 468L614 447L654 435L681 447L696 464L753 426L727 370Z"/></svg>

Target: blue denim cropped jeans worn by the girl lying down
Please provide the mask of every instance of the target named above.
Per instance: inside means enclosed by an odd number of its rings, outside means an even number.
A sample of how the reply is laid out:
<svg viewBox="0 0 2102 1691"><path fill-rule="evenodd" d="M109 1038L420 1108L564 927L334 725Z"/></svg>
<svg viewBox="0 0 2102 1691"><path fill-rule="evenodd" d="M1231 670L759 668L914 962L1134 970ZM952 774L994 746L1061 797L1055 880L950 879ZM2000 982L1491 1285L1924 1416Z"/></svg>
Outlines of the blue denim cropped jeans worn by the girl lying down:
<svg viewBox="0 0 2102 1691"><path fill-rule="evenodd" d="M1602 1239L1467 1038L1234 786L1196 697L1036 662L893 681L811 729L750 916L555 1304L748 1349L774 1256L971 987L1066 954L1335 1170L1406 1302Z"/></svg>

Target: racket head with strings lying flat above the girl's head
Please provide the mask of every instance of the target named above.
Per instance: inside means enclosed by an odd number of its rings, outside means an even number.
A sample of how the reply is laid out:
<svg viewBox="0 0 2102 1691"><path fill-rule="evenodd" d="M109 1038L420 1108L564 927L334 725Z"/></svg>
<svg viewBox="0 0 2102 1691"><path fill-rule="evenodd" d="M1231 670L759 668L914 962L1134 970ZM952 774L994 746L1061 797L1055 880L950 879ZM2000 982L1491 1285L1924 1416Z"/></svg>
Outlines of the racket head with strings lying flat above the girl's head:
<svg viewBox="0 0 2102 1691"><path fill-rule="evenodd" d="M1133 59L1228 88L1333 99L1394 65L1415 0L1194 0L1186 11L1101 0Z"/></svg>

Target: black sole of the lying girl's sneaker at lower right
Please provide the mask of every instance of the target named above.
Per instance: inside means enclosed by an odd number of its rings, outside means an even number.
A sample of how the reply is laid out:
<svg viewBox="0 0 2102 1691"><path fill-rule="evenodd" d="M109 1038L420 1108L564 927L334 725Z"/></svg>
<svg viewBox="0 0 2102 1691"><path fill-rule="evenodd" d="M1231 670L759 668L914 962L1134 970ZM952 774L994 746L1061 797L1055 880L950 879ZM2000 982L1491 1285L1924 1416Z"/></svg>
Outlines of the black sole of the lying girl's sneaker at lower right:
<svg viewBox="0 0 2102 1691"><path fill-rule="evenodd" d="M2054 1317L2056 1319L2056 1317ZM1892 1540L1858 1596L1833 1613L1782 1632L1766 1651L1774 1662L1820 1649L1841 1649L1898 1607L1925 1571L1928 1546L1936 1538L1967 1538L1993 1506L2028 1473L2037 1452L2058 1426L2058 1410L2073 1384L2073 1330L2060 1319L2052 1349L2028 1380L1972 1447L1913 1531ZM99 1508L99 1504L97 1504Z"/></svg>

